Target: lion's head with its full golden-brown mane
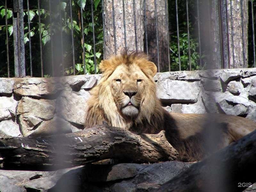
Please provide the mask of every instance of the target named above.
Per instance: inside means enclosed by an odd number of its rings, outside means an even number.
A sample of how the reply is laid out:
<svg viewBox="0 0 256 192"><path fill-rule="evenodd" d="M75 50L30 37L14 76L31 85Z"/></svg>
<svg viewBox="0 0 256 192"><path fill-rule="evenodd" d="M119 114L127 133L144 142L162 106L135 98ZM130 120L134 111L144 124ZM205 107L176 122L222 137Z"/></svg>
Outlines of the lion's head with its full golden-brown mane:
<svg viewBox="0 0 256 192"><path fill-rule="evenodd" d="M156 65L147 55L139 53L117 55L100 62L102 78L91 91L88 100L86 126L106 120L112 126L127 130L142 121L150 123L160 106L153 76ZM159 108L159 107L158 107Z"/></svg>

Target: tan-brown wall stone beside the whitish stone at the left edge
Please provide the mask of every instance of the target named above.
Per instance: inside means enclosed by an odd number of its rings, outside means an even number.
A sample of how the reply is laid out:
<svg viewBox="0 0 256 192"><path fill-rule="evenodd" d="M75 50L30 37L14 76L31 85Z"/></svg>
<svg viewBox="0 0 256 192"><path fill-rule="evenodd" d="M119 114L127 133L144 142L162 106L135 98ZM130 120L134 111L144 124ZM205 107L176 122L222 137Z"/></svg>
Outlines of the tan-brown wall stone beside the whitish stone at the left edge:
<svg viewBox="0 0 256 192"><path fill-rule="evenodd" d="M52 119L54 111L55 100L22 97L18 105L19 115L35 116L43 120Z"/></svg>

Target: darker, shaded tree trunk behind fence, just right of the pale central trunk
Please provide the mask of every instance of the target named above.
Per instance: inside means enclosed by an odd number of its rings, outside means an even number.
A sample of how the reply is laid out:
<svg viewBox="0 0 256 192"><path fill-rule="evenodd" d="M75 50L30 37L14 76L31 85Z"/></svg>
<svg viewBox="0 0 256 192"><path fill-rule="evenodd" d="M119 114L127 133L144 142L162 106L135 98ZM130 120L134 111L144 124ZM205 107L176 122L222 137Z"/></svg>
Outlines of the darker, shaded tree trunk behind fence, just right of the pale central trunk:
<svg viewBox="0 0 256 192"><path fill-rule="evenodd" d="M158 27L158 46L159 46L159 71L168 71L168 44L165 1L156 1L157 27ZM157 43L156 43L156 17L154 0L146 1L147 33L148 33L148 54L157 66ZM145 48L146 49L146 48ZM157 66L158 68L158 66Z"/></svg>

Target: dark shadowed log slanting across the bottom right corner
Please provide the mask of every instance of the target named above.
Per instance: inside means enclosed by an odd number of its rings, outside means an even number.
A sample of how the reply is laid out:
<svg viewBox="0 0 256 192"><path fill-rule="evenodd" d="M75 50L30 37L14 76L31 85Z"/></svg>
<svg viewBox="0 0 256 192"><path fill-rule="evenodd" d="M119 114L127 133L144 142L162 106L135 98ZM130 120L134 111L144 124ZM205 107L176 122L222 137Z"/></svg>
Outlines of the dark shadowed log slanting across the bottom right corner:
<svg viewBox="0 0 256 192"><path fill-rule="evenodd" d="M255 159L256 131L193 164L156 191L243 191L256 182Z"/></svg>

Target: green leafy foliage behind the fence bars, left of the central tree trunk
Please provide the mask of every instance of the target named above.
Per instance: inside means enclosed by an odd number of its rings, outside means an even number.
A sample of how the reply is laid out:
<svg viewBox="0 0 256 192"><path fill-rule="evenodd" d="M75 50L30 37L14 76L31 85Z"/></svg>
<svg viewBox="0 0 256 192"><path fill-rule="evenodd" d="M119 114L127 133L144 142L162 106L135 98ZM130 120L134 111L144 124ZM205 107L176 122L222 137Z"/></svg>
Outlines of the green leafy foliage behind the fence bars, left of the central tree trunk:
<svg viewBox="0 0 256 192"><path fill-rule="evenodd" d="M81 2L82 1L82 2ZM72 1L72 15L73 15L73 38L74 38L74 49L75 49L75 73L84 74L84 61L85 61L85 71L86 74L95 73L94 69L94 50L93 50L93 39L92 39L92 17L91 17L91 4L87 3L86 0L73 0ZM89 2L89 1L88 1ZM83 24L84 24L84 47L85 47L85 58L83 58L82 49L82 26L81 26L81 3L83 10ZM8 2L7 4L7 20L8 20L8 35L9 35L9 47L13 49L13 26L12 26L12 4ZM25 8L25 7L24 7ZM33 76L40 76L41 65L40 65L40 49L39 49L39 13L41 18L41 37L43 46L43 62L50 63L51 51L53 51L53 56L60 53L60 33L62 33L63 47L64 51L61 56L63 57L64 63L60 60L53 58L53 65L57 69L62 69L64 65L64 74L73 74L72 67L72 46L71 46L71 19L70 19L70 5L64 1L58 4L51 3L51 18L49 11L49 1L45 1L40 5L40 12L38 12L37 1L30 1L30 10L24 9L24 43L25 43L25 58L26 58L26 73L29 74L29 33L31 36L31 46L32 46L32 64L33 64ZM96 53L96 73L98 73L97 63L102 59L102 43L103 43L103 29L102 29L102 18L101 18L101 4L100 0L94 0L94 30L95 30L95 53ZM28 31L28 14L30 20L30 31ZM5 7L0 6L0 39L5 39ZM50 24L50 19L52 24ZM61 29L61 30L60 30ZM54 48L51 49L51 41L53 42ZM6 44L6 43L5 43ZM57 47L57 48L55 48ZM35 48L35 49L34 49ZM3 46L2 52L5 52L5 46ZM33 50L36 50L33 52ZM11 52L11 51L9 51ZM13 54L10 55L10 63L14 60ZM6 59L4 59L6 60ZM49 65L44 65L44 76L52 76L52 67ZM10 65L11 67L12 65ZM48 67L47 67L48 66ZM0 61L0 76L7 76L6 63ZM5 72L4 72L5 71ZM10 68L11 75L14 75L14 68ZM62 72L63 73L63 72Z"/></svg>

